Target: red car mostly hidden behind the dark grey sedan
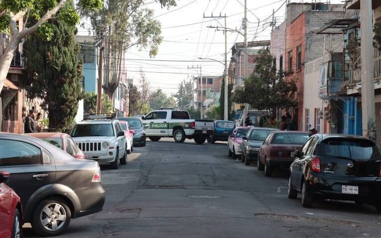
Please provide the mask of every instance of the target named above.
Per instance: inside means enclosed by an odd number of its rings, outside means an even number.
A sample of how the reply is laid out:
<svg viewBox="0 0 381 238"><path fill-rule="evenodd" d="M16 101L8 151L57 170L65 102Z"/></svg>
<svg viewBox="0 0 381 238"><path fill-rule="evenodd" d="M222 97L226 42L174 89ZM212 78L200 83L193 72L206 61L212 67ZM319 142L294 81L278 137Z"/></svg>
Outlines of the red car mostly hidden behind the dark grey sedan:
<svg viewBox="0 0 381 238"><path fill-rule="evenodd" d="M50 144L66 151L69 155L76 159L85 159L85 154L79 149L77 144L73 141L70 135L58 132L46 133L29 133L27 136L39 138Z"/></svg>

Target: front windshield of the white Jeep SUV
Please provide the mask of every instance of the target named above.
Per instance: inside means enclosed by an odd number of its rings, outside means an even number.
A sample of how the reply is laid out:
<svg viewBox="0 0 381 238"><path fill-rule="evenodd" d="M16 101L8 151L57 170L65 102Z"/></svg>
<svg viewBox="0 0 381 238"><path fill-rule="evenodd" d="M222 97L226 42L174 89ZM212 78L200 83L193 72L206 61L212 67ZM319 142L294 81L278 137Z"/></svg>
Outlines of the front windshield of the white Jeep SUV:
<svg viewBox="0 0 381 238"><path fill-rule="evenodd" d="M85 136L114 136L111 124L82 124L76 125L72 137Z"/></svg>

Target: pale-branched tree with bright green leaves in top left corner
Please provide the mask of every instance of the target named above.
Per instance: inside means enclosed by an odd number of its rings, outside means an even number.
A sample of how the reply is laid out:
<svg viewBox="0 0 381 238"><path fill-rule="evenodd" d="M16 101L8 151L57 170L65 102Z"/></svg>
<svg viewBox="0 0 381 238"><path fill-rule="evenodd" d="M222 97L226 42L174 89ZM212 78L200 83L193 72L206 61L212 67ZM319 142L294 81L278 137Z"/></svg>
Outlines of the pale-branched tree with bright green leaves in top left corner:
<svg viewBox="0 0 381 238"><path fill-rule="evenodd" d="M0 56L0 92L4 85L13 54L18 44L26 36L38 33L46 40L51 40L53 25L48 20L52 17L74 27L79 22L74 5L66 7L56 14L68 0L1 0L0 31L9 33L9 42ZM100 8L102 0L78 0L77 6L89 12ZM25 22L20 24L18 21Z"/></svg>

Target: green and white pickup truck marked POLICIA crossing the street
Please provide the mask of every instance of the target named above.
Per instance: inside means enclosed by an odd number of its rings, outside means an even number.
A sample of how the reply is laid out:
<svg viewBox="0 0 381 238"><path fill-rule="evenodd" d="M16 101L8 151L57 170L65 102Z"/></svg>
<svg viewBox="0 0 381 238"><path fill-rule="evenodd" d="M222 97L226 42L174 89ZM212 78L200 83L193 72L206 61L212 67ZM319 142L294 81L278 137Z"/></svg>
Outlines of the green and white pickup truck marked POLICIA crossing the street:
<svg viewBox="0 0 381 238"><path fill-rule="evenodd" d="M203 144L207 137L213 134L213 120L190 119L184 110L161 108L143 116L145 135L151 141L162 137L173 137L175 142L183 143L185 139L194 139L197 144Z"/></svg>

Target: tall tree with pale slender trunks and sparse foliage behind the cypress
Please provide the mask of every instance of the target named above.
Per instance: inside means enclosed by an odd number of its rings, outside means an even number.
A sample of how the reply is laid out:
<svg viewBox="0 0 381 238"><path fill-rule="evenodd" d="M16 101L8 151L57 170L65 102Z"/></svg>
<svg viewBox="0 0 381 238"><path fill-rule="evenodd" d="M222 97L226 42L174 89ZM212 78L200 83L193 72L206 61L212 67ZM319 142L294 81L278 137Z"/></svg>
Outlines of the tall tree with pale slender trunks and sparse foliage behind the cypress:
<svg viewBox="0 0 381 238"><path fill-rule="evenodd" d="M161 7L176 5L175 0L158 0ZM105 45L105 92L112 97L121 80L121 66L125 51L136 46L149 48L155 56L161 43L161 25L153 17L153 10L143 7L146 0L105 0L97 11L81 10L91 22L89 30L100 35Z"/></svg>

